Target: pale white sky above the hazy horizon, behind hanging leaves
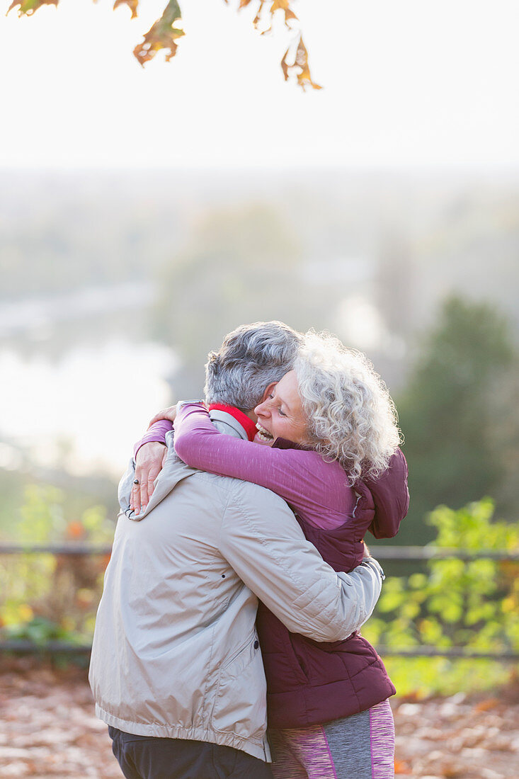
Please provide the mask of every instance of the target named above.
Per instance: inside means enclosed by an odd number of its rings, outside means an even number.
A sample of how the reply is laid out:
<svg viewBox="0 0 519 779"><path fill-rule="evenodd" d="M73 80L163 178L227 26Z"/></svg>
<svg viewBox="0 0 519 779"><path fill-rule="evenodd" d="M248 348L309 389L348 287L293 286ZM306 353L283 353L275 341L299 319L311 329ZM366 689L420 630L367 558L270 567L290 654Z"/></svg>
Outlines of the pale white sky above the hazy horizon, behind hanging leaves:
<svg viewBox="0 0 519 779"><path fill-rule="evenodd" d="M165 0L0 16L0 166L519 164L517 0L295 0L325 87L307 93L284 83L283 30L180 4L177 56L145 69L132 49Z"/></svg>

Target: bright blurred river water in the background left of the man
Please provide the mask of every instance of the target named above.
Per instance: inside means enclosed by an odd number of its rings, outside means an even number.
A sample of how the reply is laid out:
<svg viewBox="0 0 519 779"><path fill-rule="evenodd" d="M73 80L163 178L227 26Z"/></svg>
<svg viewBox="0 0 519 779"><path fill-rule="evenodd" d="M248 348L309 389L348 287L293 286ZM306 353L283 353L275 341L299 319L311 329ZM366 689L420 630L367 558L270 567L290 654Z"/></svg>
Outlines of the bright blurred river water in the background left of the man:
<svg viewBox="0 0 519 779"><path fill-rule="evenodd" d="M154 298L150 287L123 286L0 305L0 467L16 468L23 448L37 464L118 477L150 417L171 402L174 351L113 323L101 344L78 337L56 355L47 336L34 347L36 333L57 327L59 336L71 320L92 315L99 330L104 312L142 309ZM30 351L19 337L32 342Z"/></svg>

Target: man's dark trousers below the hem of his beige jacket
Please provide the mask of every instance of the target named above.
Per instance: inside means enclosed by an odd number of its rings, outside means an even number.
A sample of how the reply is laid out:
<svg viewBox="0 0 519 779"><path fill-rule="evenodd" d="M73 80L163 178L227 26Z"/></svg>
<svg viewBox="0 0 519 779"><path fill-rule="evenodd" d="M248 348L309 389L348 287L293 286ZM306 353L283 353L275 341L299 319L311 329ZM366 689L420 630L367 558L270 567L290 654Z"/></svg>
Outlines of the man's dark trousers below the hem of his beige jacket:
<svg viewBox="0 0 519 779"><path fill-rule="evenodd" d="M231 746L133 735L108 726L126 779L272 779L268 763Z"/></svg>

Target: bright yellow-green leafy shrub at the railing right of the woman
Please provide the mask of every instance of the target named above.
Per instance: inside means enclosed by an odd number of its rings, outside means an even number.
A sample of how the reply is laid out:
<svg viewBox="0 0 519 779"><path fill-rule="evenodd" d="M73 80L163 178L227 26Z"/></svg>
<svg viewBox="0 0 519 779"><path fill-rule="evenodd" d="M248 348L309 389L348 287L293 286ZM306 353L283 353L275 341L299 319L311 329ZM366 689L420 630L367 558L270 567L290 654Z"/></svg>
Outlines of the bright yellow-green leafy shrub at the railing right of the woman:
<svg viewBox="0 0 519 779"><path fill-rule="evenodd" d="M453 511L439 506L429 515L434 548L517 552L519 528L493 521L493 501L483 499ZM390 648L465 647L480 652L519 652L519 562L475 559L430 560L428 573L388 577L366 638ZM510 674L493 660L388 657L400 691L456 692L492 686ZM394 680L394 681L395 681ZM465 681L464 681L465 680Z"/></svg>

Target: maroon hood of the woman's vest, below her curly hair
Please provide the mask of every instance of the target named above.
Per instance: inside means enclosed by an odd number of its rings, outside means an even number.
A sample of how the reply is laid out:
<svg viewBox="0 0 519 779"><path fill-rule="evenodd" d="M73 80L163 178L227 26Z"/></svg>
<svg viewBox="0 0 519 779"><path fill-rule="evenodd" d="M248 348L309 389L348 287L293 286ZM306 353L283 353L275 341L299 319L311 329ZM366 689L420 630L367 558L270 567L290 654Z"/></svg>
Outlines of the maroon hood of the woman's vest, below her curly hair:
<svg viewBox="0 0 519 779"><path fill-rule="evenodd" d="M401 450L397 449L378 479L365 479L365 485L375 503L369 532L375 538L393 538L409 508L408 464Z"/></svg>

